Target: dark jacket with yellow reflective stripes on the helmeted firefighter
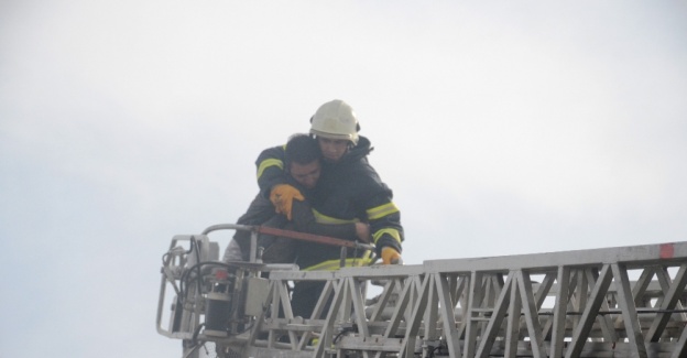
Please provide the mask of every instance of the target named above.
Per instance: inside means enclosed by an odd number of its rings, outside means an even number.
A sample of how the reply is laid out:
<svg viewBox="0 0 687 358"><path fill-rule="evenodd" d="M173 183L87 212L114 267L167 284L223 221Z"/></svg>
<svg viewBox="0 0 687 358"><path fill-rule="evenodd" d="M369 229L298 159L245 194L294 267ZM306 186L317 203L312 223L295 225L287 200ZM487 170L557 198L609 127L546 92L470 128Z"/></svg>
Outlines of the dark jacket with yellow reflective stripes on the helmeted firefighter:
<svg viewBox="0 0 687 358"><path fill-rule="evenodd" d="M337 163L323 161L323 172L310 198L313 211L321 224L366 221L370 224L378 256L383 247L392 247L401 252L401 213L392 202L392 191L369 164L367 155L370 151L370 141L360 137L358 145ZM269 196L274 185L285 182L284 147L264 150L255 164L261 193ZM338 248L315 243L303 245L299 251L297 263L306 270L329 269L337 265L340 257Z"/></svg>

